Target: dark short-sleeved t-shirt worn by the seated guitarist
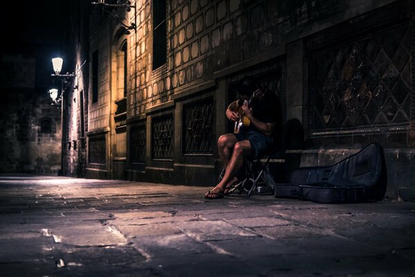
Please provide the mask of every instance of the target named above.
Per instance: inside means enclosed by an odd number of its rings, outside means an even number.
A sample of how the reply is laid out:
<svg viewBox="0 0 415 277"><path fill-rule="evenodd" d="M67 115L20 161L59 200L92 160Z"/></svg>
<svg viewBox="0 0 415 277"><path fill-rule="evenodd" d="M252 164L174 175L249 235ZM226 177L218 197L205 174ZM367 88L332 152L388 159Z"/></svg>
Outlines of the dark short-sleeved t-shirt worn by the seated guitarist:
<svg viewBox="0 0 415 277"><path fill-rule="evenodd" d="M279 102L278 97L271 91L266 90L262 98L253 98L250 102L250 107L252 107L252 115L257 118L257 120L264 123L275 123L275 128L273 138L279 136L282 131L282 109L281 103ZM259 129L255 125L250 124L248 130L246 131L255 131L259 132Z"/></svg>

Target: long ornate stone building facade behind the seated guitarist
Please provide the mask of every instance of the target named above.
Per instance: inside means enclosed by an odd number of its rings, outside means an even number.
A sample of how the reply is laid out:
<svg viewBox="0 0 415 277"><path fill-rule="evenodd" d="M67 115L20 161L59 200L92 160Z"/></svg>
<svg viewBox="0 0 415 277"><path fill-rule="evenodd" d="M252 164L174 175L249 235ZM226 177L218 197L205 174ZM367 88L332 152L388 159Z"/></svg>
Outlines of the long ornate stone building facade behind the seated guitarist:
<svg viewBox="0 0 415 277"><path fill-rule="evenodd" d="M410 197L413 1L131 2L84 9L89 22L79 28L89 45L75 44L75 64L82 55L87 62L73 95L83 91L85 148L66 167L82 165L86 177L212 185L221 169L216 139L230 131L230 87L252 75L282 100L284 122L304 131L304 149L286 145L286 169L379 142L389 195ZM80 109L66 109L73 141Z"/></svg>

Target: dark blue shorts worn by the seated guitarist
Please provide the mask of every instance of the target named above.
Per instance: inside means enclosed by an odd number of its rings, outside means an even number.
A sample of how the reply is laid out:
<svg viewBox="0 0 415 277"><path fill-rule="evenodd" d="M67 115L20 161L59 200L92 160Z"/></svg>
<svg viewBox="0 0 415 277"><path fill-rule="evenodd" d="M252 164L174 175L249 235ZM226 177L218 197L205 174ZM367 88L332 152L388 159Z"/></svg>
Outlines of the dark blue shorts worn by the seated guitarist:
<svg viewBox="0 0 415 277"><path fill-rule="evenodd" d="M273 147L273 138L259 132L248 131L233 134L237 137L238 141L249 141L251 146L250 157L252 159L264 156L264 154L267 154Z"/></svg>

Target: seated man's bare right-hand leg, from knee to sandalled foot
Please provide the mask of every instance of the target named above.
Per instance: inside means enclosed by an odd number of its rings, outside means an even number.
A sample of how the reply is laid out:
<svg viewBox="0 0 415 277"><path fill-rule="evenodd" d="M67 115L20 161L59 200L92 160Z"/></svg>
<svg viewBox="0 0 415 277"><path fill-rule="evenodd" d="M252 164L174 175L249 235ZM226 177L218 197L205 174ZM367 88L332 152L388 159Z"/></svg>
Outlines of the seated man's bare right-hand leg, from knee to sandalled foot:
<svg viewBox="0 0 415 277"><path fill-rule="evenodd" d="M232 178L237 175L239 169L243 165L243 157L250 154L251 147L248 140L239 141L234 145L232 151L232 157L228 163L228 166L225 170L225 175L219 184L217 184L210 192L212 193L223 193L225 191L226 185ZM206 193L206 196L209 197L209 193Z"/></svg>

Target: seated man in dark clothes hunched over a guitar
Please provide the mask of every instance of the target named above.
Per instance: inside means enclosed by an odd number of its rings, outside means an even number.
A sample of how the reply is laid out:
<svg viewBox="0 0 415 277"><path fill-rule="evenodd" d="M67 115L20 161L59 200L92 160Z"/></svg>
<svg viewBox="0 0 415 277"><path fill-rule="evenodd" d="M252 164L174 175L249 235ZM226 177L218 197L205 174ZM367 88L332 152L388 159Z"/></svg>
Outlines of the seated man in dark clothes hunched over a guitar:
<svg viewBox="0 0 415 277"><path fill-rule="evenodd" d="M281 132L282 111L274 93L259 87L255 78L246 77L237 84L239 100L226 110L229 120L238 123L241 116L248 118L248 126L242 125L233 134L218 139L219 157L225 168L223 179L205 194L207 199L219 199L227 195L238 181L237 174L243 166L243 157L252 159L266 154Z"/></svg>

